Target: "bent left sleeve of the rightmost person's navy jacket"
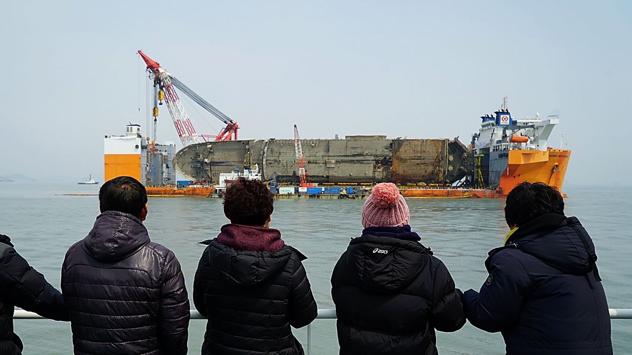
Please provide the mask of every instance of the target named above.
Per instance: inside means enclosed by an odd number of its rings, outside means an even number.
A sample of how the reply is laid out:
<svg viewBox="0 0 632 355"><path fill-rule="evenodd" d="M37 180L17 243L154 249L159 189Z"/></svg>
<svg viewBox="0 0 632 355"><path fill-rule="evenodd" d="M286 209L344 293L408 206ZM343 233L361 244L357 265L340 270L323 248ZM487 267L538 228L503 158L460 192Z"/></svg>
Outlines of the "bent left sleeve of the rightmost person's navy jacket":
<svg viewBox="0 0 632 355"><path fill-rule="evenodd" d="M530 278L520 261L506 252L493 256L489 273L480 292L465 292L465 312L474 327L502 332L518 319Z"/></svg>

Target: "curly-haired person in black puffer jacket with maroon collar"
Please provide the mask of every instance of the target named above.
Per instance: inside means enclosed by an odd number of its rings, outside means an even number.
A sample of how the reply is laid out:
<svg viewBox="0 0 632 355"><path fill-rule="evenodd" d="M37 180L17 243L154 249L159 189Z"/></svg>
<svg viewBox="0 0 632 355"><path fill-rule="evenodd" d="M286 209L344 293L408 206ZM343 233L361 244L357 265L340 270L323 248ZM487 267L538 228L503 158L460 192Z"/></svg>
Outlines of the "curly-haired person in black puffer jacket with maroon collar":
<svg viewBox="0 0 632 355"><path fill-rule="evenodd" d="M302 355L291 327L311 323L318 310L302 260L270 229L274 196L258 180L239 178L224 194L231 224L202 253L193 303L209 318L202 354Z"/></svg>

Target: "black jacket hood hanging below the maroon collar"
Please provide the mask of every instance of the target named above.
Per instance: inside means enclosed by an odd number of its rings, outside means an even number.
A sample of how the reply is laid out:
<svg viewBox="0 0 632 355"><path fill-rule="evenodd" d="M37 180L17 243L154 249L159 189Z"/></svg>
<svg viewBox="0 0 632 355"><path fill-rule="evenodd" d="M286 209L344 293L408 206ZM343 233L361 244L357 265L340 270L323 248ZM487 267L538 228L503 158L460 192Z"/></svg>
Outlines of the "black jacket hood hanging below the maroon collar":
<svg viewBox="0 0 632 355"><path fill-rule="evenodd" d="M209 244L209 263L219 278L226 284L241 287L253 286L281 274L294 252L288 245L274 252L234 250L219 243L217 238L202 244Z"/></svg>

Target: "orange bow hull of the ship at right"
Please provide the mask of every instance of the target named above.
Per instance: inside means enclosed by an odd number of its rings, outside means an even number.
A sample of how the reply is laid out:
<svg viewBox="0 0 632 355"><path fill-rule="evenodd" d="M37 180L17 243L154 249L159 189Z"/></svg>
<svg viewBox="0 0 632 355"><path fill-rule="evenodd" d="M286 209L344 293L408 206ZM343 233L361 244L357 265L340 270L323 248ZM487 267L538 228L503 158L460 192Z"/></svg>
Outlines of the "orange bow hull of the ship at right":
<svg viewBox="0 0 632 355"><path fill-rule="evenodd" d="M496 189L506 196L516 185L542 182L562 191L571 151L568 149L509 150L509 162Z"/></svg>

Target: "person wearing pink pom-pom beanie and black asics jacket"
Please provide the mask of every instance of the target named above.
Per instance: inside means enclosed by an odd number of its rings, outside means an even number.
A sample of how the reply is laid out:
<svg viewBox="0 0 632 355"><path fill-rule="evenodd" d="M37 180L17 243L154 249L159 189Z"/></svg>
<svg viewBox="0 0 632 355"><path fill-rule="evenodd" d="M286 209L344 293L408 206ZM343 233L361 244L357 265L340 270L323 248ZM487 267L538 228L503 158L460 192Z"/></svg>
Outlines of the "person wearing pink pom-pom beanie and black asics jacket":
<svg viewBox="0 0 632 355"><path fill-rule="evenodd" d="M362 236L331 277L341 355L437 354L435 329L465 324L461 291L409 221L397 186L375 185L362 209Z"/></svg>

